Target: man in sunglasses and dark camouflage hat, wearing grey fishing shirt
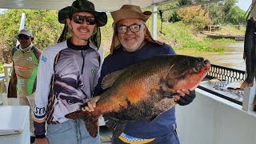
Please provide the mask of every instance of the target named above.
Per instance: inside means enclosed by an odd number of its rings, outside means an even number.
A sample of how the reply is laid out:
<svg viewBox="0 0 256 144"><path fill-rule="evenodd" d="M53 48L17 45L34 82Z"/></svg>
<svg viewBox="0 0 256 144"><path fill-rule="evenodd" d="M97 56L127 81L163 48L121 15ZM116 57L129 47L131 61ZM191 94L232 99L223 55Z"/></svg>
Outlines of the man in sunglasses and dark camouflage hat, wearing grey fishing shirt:
<svg viewBox="0 0 256 144"><path fill-rule="evenodd" d="M100 26L105 12L97 12L87 0L76 0L58 12L64 24L58 44L42 53L34 106L35 143L100 143L91 138L82 120L70 120L66 114L80 110L93 93L102 66ZM66 38L68 30L71 38ZM45 130L47 122L47 137Z"/></svg>

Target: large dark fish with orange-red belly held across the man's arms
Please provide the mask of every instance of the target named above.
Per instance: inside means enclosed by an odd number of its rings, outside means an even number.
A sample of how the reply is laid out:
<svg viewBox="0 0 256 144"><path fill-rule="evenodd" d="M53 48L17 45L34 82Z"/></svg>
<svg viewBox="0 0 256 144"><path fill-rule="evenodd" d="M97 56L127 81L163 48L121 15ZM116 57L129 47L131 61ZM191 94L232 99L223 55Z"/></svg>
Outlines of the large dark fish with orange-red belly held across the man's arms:
<svg viewBox="0 0 256 144"><path fill-rule="evenodd" d="M185 55L162 55L147 58L134 65L106 75L93 112L76 111L66 118L81 118L92 137L98 134L98 117L103 114L106 126L118 136L126 122L150 118L170 110L176 103L177 90L194 90L206 76L210 62Z"/></svg>

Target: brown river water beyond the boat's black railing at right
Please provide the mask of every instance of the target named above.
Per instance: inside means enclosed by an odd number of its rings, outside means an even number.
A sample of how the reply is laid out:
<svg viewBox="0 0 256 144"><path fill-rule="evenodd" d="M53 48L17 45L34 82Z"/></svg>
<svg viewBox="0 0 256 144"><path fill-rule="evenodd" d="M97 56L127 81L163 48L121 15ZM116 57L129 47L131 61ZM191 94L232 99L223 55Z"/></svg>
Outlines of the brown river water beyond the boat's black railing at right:
<svg viewBox="0 0 256 144"><path fill-rule="evenodd" d="M175 50L177 54L199 56L210 60L210 63L226 66L236 70L246 70L243 60L243 41L234 43L213 43L213 46L224 47L224 52L202 52L197 50Z"/></svg>

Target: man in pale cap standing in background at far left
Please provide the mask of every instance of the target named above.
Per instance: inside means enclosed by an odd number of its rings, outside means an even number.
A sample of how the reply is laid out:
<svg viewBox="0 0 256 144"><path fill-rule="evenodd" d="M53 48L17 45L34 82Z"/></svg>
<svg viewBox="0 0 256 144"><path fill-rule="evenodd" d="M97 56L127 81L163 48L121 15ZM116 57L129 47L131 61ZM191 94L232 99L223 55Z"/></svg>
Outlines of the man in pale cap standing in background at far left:
<svg viewBox="0 0 256 144"><path fill-rule="evenodd" d="M41 51L33 45L33 34L27 28L20 30L17 38L20 44L11 50L13 70L7 97L18 98L21 106L30 106L30 141L34 142L34 91Z"/></svg>

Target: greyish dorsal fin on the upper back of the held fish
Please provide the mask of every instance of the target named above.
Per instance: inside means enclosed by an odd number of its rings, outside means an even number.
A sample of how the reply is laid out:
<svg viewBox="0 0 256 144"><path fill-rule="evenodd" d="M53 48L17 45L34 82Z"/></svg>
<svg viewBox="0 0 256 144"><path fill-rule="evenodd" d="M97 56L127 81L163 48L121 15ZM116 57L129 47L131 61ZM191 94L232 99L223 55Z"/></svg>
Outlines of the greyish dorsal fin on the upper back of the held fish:
<svg viewBox="0 0 256 144"><path fill-rule="evenodd" d="M107 74L102 80L102 89L106 90L107 88L111 87L114 81L118 78L120 74L126 69L114 71L113 73Z"/></svg>

